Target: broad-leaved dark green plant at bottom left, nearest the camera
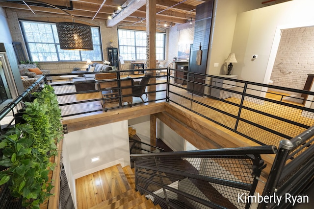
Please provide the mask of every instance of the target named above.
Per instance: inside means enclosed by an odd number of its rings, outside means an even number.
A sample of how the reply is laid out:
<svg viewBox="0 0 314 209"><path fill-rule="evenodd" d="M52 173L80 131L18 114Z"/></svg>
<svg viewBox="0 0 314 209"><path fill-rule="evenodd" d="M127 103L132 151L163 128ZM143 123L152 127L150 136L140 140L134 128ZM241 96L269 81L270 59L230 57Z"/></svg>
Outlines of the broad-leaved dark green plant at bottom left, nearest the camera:
<svg viewBox="0 0 314 209"><path fill-rule="evenodd" d="M51 196L48 173L54 166L44 149L34 146L38 136L28 124L18 124L0 136L0 185L7 183L11 195L22 197L22 206L39 209Z"/></svg>

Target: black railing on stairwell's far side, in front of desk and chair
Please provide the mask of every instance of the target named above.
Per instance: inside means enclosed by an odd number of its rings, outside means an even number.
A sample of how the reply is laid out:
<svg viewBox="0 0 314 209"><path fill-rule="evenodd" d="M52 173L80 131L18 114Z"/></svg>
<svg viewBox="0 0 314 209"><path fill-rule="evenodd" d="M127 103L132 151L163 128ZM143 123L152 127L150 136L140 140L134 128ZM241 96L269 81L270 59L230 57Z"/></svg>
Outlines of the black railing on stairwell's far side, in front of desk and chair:
<svg viewBox="0 0 314 209"><path fill-rule="evenodd" d="M156 74L156 69L146 69L151 74L150 82L139 88L145 74L131 74L139 70L114 71L114 78L97 79L96 75L113 72L73 72L49 75L61 108L62 117L74 116L116 108L130 108L146 102L166 99L166 77ZM154 82L156 80L156 82ZM137 87L135 87L137 86ZM153 89L153 90L152 90Z"/></svg>

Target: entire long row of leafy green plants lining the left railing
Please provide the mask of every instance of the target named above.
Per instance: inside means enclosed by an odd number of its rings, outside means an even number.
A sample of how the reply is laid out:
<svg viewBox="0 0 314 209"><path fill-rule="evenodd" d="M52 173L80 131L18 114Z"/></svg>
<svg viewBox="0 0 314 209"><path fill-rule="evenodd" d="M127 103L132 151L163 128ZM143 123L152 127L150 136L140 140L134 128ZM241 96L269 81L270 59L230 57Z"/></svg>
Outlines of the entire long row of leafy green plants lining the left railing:
<svg viewBox="0 0 314 209"><path fill-rule="evenodd" d="M25 102L26 123L0 136L0 166L6 167L0 171L0 186L8 184L12 196L22 197L24 207L39 209L52 195L48 173L54 164L50 158L57 154L62 124L53 88L45 85L34 94L33 102Z"/></svg>

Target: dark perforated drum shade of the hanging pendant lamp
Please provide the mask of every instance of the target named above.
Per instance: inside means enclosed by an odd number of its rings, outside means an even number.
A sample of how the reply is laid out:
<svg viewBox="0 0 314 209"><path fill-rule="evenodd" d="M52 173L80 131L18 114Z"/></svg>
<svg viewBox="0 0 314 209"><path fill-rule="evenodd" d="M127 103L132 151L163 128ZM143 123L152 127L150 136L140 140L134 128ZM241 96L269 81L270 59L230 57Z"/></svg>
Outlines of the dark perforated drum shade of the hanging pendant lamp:
<svg viewBox="0 0 314 209"><path fill-rule="evenodd" d="M93 50L92 29L81 23L55 23L61 49Z"/></svg>

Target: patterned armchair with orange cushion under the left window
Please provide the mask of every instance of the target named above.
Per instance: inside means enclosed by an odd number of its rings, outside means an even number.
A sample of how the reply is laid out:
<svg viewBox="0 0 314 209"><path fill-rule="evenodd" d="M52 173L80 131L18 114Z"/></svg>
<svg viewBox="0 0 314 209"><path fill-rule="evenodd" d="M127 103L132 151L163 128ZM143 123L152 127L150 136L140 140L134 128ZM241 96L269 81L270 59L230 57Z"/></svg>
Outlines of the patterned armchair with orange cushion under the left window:
<svg viewBox="0 0 314 209"><path fill-rule="evenodd" d="M50 74L50 70L40 70L36 65L33 64L21 64L18 65L18 68L24 89L27 89L41 76ZM50 80L51 82L52 78L47 77L47 80Z"/></svg>

